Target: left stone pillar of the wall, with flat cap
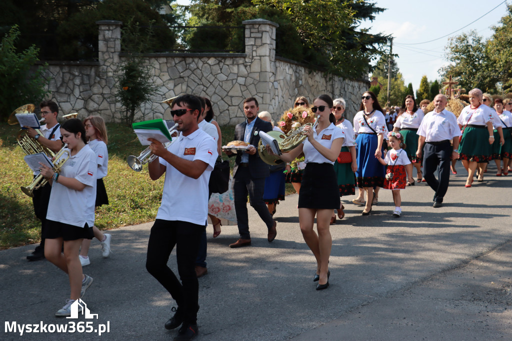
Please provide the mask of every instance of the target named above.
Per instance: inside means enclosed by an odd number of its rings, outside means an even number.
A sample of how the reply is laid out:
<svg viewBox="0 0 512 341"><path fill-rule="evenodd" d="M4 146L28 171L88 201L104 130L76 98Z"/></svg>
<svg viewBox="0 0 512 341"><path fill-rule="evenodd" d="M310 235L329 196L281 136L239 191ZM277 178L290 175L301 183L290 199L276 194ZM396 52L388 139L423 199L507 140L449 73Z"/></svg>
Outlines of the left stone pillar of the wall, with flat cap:
<svg viewBox="0 0 512 341"><path fill-rule="evenodd" d="M110 112L115 120L116 100L114 95L116 79L114 77L119 65L119 53L121 52L121 25L116 20L99 20L98 25L98 62L99 62L99 83L92 88L92 96L86 99L86 108L91 113L100 111ZM104 97L99 101L96 97Z"/></svg>

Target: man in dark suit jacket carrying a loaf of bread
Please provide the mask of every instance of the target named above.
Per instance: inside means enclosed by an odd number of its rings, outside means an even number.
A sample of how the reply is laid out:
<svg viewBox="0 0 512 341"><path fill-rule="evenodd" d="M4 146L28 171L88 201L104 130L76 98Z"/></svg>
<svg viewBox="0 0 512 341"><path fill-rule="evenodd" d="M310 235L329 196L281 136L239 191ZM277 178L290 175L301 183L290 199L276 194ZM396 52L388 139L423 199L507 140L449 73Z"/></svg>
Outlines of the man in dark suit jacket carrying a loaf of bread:
<svg viewBox="0 0 512 341"><path fill-rule="evenodd" d="M249 195L251 206L258 212L265 225L267 225L267 240L271 242L277 235L275 220L272 219L272 215L263 200L265 178L270 175L269 166L263 162L255 148L258 142L260 142L259 132L267 133L271 131L272 124L258 118L259 111L258 100L253 97L244 99L246 120L234 128L234 139L249 143L251 147L244 153L238 154L225 151L229 157L237 156L233 167L233 195L240 238L229 245L231 248L249 246L251 244L249 218L247 215L247 194Z"/></svg>

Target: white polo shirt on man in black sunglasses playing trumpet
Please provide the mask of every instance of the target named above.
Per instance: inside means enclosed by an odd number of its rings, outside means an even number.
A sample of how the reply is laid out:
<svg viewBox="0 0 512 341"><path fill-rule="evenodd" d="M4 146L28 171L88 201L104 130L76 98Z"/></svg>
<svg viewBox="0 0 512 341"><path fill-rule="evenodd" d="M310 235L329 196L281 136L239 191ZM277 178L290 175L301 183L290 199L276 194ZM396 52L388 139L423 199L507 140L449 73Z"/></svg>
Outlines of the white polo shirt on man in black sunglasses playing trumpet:
<svg viewBox="0 0 512 341"><path fill-rule="evenodd" d="M198 129L187 136L180 134L167 150L185 160L204 161L208 166L198 179L193 179L159 158L166 169L157 219L180 220L205 226L208 217L208 180L218 156L217 142Z"/></svg>

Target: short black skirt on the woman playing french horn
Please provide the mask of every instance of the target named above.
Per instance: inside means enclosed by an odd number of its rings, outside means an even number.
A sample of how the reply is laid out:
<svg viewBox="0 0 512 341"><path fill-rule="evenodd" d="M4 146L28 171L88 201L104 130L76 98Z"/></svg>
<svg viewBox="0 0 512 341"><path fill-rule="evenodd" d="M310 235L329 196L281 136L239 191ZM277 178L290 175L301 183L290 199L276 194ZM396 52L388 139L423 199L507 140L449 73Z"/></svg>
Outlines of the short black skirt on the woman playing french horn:
<svg viewBox="0 0 512 341"><path fill-rule="evenodd" d="M339 204L334 166L330 163L308 163L302 175L298 208L338 209Z"/></svg>

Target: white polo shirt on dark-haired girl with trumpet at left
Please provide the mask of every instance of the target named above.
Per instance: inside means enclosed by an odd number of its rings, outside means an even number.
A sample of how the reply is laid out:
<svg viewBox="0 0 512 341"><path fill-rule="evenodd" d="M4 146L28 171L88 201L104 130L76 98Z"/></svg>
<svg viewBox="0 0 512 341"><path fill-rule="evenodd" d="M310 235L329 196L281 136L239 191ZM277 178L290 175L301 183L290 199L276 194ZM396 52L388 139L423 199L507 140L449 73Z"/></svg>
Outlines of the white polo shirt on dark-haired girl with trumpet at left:
<svg viewBox="0 0 512 341"><path fill-rule="evenodd" d="M57 183L52 184L46 219L78 227L84 227L87 222L92 227L97 169L96 154L87 144L76 155L70 156L59 176L75 178L86 187L83 190L71 189L58 183L57 179Z"/></svg>

